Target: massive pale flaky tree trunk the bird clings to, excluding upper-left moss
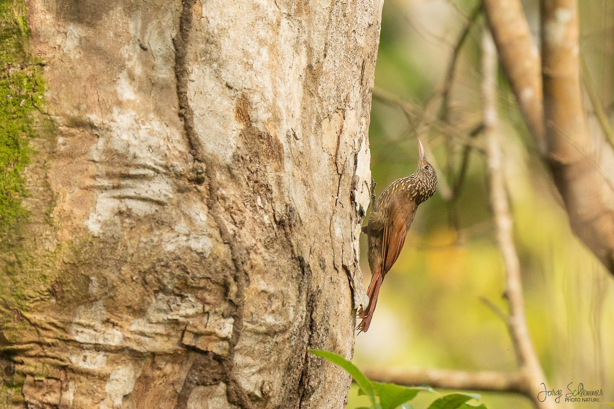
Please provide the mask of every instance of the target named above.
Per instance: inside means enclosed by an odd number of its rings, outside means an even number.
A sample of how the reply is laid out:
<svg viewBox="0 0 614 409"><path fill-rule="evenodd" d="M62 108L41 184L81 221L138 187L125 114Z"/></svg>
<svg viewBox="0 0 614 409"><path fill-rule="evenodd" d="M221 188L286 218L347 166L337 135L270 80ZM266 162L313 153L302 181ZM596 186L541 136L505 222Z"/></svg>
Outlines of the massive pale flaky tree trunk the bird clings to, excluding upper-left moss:
<svg viewBox="0 0 614 409"><path fill-rule="evenodd" d="M0 407L344 407L382 1L26 6Z"/></svg>

